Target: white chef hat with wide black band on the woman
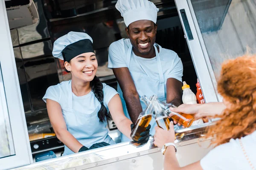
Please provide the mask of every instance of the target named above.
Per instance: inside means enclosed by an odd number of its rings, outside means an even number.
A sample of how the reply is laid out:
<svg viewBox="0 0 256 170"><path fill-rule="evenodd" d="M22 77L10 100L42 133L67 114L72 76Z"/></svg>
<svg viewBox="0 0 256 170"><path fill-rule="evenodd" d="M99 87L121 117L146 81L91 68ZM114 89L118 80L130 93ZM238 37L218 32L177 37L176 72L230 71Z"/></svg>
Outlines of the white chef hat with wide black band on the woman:
<svg viewBox="0 0 256 170"><path fill-rule="evenodd" d="M86 33L70 31L53 43L53 57L69 62L79 54L93 52L93 39Z"/></svg>

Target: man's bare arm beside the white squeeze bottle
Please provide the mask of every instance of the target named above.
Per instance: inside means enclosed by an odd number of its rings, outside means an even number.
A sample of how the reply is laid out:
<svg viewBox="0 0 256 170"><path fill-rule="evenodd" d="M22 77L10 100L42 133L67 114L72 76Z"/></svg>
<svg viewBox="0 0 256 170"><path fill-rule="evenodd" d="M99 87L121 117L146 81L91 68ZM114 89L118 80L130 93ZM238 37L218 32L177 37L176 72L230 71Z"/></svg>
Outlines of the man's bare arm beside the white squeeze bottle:
<svg viewBox="0 0 256 170"><path fill-rule="evenodd" d="M181 105L182 82L175 78L167 79L166 93L166 103L172 103L175 106Z"/></svg>

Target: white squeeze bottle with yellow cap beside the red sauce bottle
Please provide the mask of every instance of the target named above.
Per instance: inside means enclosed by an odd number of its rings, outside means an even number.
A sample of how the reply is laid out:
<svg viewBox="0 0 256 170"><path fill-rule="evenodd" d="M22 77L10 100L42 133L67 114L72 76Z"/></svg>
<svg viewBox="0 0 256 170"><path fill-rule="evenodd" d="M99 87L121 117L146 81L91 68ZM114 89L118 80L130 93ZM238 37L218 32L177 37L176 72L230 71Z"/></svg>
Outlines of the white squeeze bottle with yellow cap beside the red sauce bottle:
<svg viewBox="0 0 256 170"><path fill-rule="evenodd" d="M187 85L185 81L183 82L182 90L183 90L182 102L184 104L197 104L195 94L191 91L189 85ZM200 125L203 123L204 123L203 119L198 119L192 123L192 126Z"/></svg>

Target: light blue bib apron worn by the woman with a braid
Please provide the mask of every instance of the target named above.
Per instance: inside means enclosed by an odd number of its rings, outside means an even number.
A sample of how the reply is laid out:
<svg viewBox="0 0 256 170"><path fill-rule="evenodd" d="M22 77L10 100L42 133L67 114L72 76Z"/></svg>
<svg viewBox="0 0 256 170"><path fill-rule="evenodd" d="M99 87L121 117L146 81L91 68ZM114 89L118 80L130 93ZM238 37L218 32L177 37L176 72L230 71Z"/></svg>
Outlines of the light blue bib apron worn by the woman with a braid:
<svg viewBox="0 0 256 170"><path fill-rule="evenodd" d="M79 108L76 111L73 109L73 97L71 81L68 84L68 108L63 109L62 114L64 116L67 130L84 146L90 147L98 142L106 142L109 144L115 144L115 142L108 135L108 129L106 128L107 122L99 122L98 111L101 107L100 102L95 106L95 111L92 113L81 113ZM90 101L88 101L90 102ZM69 155L74 153L66 145L64 147L63 155Z"/></svg>

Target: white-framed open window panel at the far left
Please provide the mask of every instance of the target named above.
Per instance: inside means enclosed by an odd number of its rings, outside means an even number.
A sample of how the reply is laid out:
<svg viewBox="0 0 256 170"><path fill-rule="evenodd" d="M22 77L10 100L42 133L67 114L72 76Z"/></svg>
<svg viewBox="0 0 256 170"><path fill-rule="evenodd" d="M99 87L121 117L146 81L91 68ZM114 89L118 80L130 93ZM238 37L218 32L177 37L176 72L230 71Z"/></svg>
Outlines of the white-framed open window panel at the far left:
<svg viewBox="0 0 256 170"><path fill-rule="evenodd" d="M0 169L32 162L4 1L0 3Z"/></svg>

